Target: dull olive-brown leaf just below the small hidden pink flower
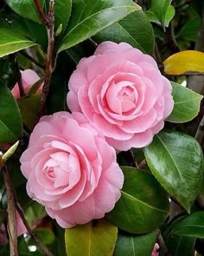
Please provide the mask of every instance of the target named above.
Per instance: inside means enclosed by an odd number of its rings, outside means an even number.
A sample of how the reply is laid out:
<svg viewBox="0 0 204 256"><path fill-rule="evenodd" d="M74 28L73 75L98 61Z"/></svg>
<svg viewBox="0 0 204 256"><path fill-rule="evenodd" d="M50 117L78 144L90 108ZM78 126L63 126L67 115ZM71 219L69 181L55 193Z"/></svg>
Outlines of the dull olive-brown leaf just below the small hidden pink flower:
<svg viewBox="0 0 204 256"><path fill-rule="evenodd" d="M32 131L35 126L40 97L40 94L34 94L17 99L18 107L22 114L22 122L30 131Z"/></svg>

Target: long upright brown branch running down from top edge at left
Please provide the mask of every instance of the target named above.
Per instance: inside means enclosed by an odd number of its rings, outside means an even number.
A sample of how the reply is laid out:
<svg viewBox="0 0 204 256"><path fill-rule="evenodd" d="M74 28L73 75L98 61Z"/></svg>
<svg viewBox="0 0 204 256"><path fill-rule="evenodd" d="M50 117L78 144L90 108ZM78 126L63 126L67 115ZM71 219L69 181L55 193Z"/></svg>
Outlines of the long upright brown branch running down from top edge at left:
<svg viewBox="0 0 204 256"><path fill-rule="evenodd" d="M45 79L41 92L39 113L37 116L37 121L41 118L41 115L45 114L46 103L48 98L48 91L51 82L51 76L53 73L53 59L54 59L54 0L49 1L49 10L47 16L47 22L45 23L48 32L48 50L47 50L47 60L45 67Z"/></svg>

